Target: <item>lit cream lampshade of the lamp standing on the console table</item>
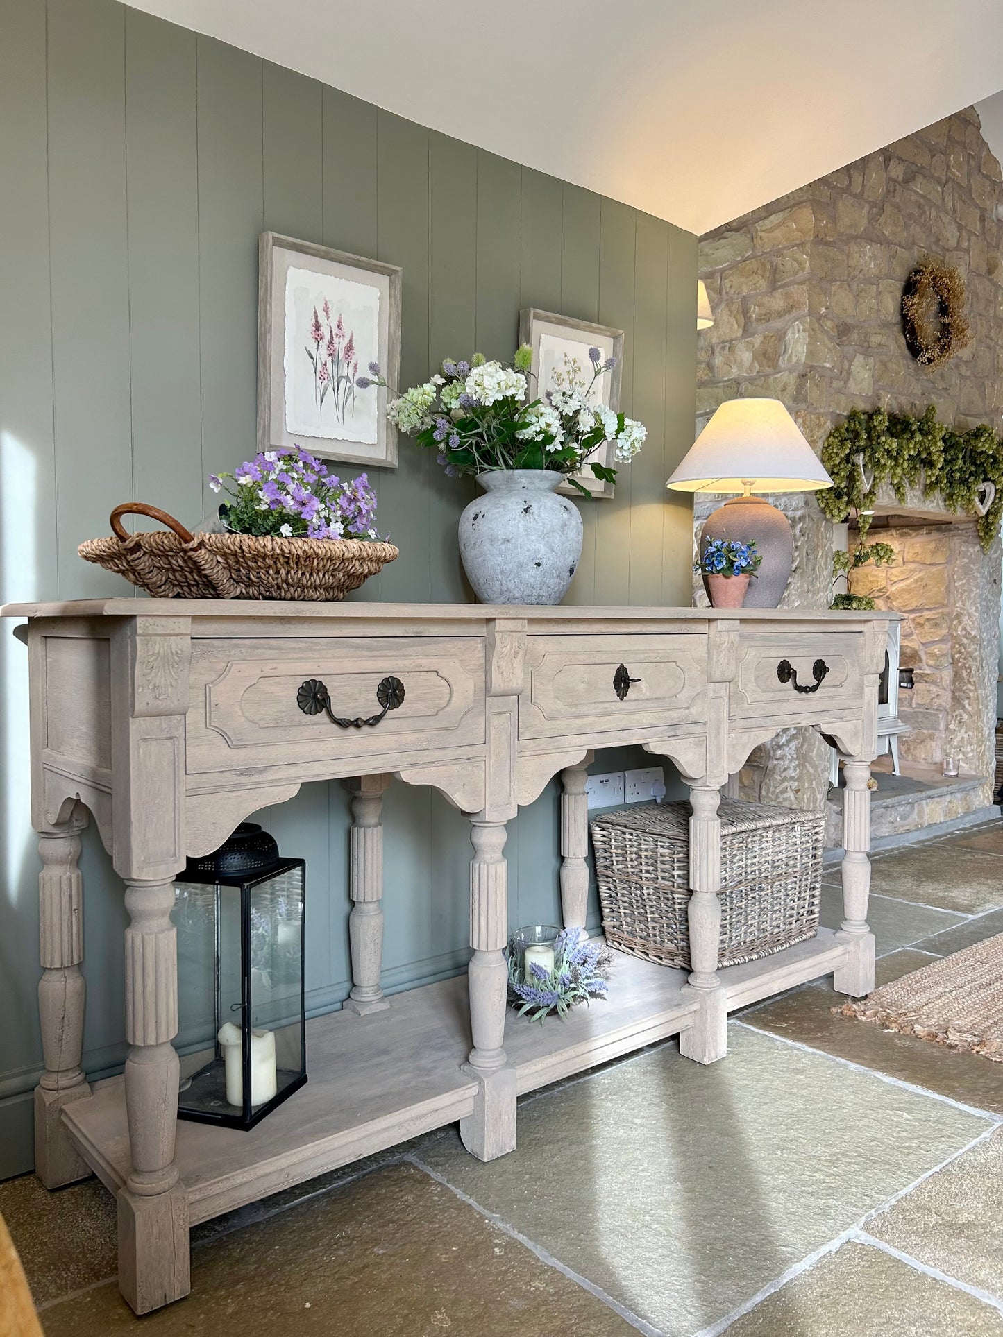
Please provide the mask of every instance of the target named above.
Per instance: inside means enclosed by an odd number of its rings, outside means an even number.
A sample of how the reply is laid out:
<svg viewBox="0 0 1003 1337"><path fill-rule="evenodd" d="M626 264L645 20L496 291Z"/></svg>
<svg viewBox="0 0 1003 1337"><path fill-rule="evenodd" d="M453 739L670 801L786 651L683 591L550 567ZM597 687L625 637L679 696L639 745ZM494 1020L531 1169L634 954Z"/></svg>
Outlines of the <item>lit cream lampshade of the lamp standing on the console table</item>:
<svg viewBox="0 0 1003 1337"><path fill-rule="evenodd" d="M780 400L728 400L666 487L678 492L814 492L830 488L812 447Z"/></svg>

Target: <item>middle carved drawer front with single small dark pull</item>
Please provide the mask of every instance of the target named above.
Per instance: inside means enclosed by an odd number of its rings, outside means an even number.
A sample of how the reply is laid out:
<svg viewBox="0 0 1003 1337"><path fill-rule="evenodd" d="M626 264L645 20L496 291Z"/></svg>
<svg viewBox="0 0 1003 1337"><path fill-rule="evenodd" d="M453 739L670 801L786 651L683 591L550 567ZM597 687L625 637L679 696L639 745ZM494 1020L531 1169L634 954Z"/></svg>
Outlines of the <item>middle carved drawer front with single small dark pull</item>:
<svg viewBox="0 0 1003 1337"><path fill-rule="evenodd" d="M703 636L530 636L519 737L698 722L706 664Z"/></svg>

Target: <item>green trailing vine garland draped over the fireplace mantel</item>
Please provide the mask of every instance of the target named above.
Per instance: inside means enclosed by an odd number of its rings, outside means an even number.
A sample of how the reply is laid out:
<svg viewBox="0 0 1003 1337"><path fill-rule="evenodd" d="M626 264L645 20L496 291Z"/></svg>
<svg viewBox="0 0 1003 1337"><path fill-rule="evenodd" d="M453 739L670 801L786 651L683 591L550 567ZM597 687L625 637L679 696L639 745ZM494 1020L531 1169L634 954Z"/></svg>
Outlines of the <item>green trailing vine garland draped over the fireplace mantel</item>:
<svg viewBox="0 0 1003 1337"><path fill-rule="evenodd" d="M999 532L1003 441L991 427L954 432L937 421L932 404L919 418L884 409L853 409L825 439L822 464L833 487L816 493L818 505L836 521L856 511L861 540L871 527L867 512L883 483L891 483L899 503L905 501L907 487L921 485L925 496L939 495L950 511L976 515L983 550L988 550ZM992 483L996 495L986 513L979 515L983 483Z"/></svg>

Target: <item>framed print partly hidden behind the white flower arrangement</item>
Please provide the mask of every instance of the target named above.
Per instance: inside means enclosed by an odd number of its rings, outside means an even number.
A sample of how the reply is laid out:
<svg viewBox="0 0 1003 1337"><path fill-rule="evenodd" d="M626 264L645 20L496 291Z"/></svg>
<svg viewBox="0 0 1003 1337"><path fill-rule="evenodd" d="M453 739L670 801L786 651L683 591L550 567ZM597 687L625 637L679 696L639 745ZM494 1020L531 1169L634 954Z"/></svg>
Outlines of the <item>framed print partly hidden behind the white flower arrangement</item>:
<svg viewBox="0 0 1003 1337"><path fill-rule="evenodd" d="M608 325L596 325L594 321L580 321L574 316L559 316L556 312L542 312L535 306L527 306L519 312L519 342L528 344L532 349L532 376L530 397L543 398L551 389L550 377L555 366L562 365L563 357L574 357L582 366L586 377L591 378L592 364L588 360L588 349L598 348L602 360L608 357L617 360L611 372L603 372L595 382L590 396L590 402L606 404L619 412L621 406L621 377L623 370L623 330L612 329ZM611 464L612 447L607 441L595 455L598 464ZM594 497L612 497L614 484L603 483L595 477L586 464L584 472L574 475L575 480L586 488ZM582 493L562 483L558 492L564 496L580 496Z"/></svg>

